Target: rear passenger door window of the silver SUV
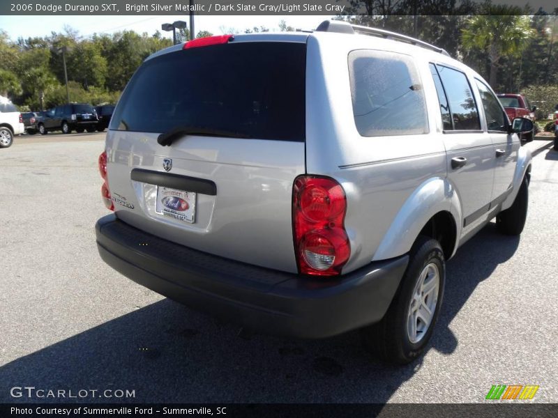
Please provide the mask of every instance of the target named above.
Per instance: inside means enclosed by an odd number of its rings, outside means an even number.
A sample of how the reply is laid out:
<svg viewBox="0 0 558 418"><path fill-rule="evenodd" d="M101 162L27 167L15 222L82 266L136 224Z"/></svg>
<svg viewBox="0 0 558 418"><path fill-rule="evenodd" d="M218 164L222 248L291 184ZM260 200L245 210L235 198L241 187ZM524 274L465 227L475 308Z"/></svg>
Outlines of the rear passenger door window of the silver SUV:
<svg viewBox="0 0 558 418"><path fill-rule="evenodd" d="M454 130L481 130L478 111L467 76L453 68L436 65L449 101Z"/></svg>

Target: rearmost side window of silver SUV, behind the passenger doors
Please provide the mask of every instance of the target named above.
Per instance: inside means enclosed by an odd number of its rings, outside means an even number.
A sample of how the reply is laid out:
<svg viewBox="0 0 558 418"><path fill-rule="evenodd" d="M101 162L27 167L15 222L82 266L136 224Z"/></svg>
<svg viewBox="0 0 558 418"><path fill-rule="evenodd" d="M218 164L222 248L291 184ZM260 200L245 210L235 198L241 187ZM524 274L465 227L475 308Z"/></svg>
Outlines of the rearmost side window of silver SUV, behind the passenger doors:
<svg viewBox="0 0 558 418"><path fill-rule="evenodd" d="M354 123L363 137L428 133L423 85L409 56L350 52L349 77Z"/></svg>

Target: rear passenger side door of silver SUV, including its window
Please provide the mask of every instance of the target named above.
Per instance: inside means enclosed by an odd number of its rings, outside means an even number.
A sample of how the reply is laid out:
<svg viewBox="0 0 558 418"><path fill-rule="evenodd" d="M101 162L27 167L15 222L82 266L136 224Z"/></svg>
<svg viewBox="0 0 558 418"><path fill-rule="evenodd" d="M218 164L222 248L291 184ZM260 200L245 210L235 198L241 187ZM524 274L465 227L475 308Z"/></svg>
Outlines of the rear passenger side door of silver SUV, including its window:
<svg viewBox="0 0 558 418"><path fill-rule="evenodd" d="M464 235L488 211L494 180L492 141L481 128L465 72L432 63L430 71L444 123L448 178L461 202Z"/></svg>

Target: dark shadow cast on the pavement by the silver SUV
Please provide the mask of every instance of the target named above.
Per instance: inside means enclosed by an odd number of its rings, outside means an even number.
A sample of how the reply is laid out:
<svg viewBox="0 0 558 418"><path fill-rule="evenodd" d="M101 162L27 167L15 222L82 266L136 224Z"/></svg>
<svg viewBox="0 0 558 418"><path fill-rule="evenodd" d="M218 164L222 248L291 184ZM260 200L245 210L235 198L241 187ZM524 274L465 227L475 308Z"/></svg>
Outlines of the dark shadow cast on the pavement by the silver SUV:
<svg viewBox="0 0 558 418"><path fill-rule="evenodd" d="M458 340L448 325L518 242L489 224L448 262L432 349L453 353ZM87 402L383 403L421 365L370 359L359 332L318 341L239 334L238 327L162 300L2 366L0 402L76 401L10 397L10 387L27 385L135 390L135 398Z"/></svg>

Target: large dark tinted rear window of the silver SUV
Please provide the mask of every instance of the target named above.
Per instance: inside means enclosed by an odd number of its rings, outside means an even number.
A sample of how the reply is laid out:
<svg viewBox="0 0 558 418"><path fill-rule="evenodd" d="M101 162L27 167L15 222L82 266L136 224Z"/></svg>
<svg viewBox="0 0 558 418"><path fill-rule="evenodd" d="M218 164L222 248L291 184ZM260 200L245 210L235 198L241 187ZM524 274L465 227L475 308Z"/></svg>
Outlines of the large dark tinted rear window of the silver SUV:
<svg viewBox="0 0 558 418"><path fill-rule="evenodd" d="M146 61L110 129L168 132L195 126L239 137L304 141L306 45L234 42ZM234 136L234 135L233 135Z"/></svg>

